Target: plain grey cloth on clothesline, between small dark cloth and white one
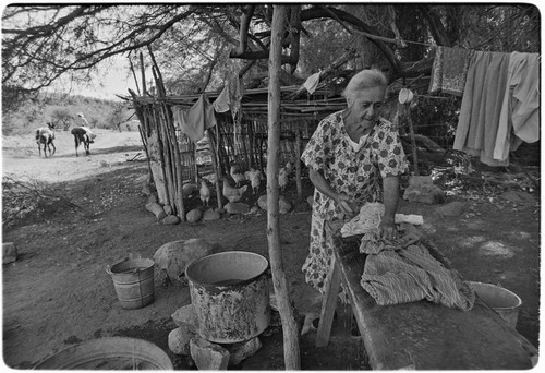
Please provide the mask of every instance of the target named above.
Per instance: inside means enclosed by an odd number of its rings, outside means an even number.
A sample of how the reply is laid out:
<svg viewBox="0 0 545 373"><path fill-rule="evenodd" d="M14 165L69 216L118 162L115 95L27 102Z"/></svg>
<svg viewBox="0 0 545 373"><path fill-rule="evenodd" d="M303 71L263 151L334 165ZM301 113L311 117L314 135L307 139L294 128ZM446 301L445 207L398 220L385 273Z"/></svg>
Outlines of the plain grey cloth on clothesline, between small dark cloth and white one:
<svg viewBox="0 0 545 373"><path fill-rule="evenodd" d="M475 51L465 80L453 148L488 166L509 161L493 159L508 68L509 53Z"/></svg>

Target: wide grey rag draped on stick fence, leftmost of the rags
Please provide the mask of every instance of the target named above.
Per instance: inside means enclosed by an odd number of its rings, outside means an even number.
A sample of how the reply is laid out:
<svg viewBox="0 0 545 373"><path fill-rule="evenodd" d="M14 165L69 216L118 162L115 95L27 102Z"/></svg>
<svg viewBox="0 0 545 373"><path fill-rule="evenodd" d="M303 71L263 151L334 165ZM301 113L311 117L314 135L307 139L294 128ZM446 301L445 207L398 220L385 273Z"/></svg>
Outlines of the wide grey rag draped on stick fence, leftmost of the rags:
<svg viewBox="0 0 545 373"><path fill-rule="evenodd" d="M172 115L174 125L178 125L180 131L194 143L204 137L206 129L216 125L214 108L205 95L201 95L190 109L183 106L173 106Z"/></svg>

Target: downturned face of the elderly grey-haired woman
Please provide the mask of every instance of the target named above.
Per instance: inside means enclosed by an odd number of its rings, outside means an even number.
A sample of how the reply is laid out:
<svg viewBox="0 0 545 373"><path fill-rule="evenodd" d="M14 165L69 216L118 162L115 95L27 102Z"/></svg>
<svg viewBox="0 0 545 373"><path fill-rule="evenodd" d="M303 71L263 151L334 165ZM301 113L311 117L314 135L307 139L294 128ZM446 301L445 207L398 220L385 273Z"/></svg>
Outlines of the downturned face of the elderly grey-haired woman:
<svg viewBox="0 0 545 373"><path fill-rule="evenodd" d="M362 127L368 128L373 125L378 118L385 95L386 87L384 86L356 92L354 97L348 100L351 115Z"/></svg>

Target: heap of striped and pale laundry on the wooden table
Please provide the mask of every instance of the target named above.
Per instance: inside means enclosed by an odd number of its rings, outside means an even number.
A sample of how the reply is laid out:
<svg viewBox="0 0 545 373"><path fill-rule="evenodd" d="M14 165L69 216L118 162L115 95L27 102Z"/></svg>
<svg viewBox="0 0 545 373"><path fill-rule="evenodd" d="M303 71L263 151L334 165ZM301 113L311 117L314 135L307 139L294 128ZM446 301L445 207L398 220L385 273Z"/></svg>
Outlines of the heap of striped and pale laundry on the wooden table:
<svg viewBox="0 0 545 373"><path fill-rule="evenodd" d="M380 237L378 225L383 214L383 204L367 203L341 229L343 237L363 233L360 252L367 256L360 284L377 304L428 300L471 310L475 303L474 291L456 270L445 267L429 254L413 225L401 222L399 239Z"/></svg>

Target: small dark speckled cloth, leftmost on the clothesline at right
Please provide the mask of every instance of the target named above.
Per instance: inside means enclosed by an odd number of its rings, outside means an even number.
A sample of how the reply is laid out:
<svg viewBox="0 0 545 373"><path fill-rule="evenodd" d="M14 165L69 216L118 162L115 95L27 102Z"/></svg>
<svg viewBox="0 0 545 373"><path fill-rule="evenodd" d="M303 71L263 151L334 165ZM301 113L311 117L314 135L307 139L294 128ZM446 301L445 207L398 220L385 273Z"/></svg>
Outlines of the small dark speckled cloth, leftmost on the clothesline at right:
<svg viewBox="0 0 545 373"><path fill-rule="evenodd" d="M471 49L437 47L428 91L462 96L473 53Z"/></svg>

